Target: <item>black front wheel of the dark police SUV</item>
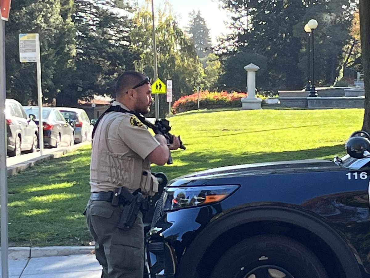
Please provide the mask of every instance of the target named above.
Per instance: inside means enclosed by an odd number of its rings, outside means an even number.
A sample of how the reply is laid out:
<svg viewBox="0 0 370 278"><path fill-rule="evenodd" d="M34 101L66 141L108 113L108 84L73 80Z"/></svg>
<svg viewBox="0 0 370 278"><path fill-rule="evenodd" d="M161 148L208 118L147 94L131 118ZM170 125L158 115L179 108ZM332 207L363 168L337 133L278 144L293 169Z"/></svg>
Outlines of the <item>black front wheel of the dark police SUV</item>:
<svg viewBox="0 0 370 278"><path fill-rule="evenodd" d="M211 278L327 278L312 251L279 235L259 235L232 246L213 268Z"/></svg>

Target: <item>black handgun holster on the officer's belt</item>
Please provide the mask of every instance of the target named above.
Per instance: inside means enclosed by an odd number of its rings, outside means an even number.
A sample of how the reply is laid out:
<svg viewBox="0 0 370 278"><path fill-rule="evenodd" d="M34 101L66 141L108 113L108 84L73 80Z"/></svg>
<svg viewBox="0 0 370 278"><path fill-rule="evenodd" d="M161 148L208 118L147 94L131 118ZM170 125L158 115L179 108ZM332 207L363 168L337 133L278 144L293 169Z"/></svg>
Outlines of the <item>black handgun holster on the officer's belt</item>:
<svg viewBox="0 0 370 278"><path fill-rule="evenodd" d="M125 187L116 188L112 198L112 206L123 204L118 229L129 230L134 225L139 211L148 210L148 202L137 190L129 192Z"/></svg>

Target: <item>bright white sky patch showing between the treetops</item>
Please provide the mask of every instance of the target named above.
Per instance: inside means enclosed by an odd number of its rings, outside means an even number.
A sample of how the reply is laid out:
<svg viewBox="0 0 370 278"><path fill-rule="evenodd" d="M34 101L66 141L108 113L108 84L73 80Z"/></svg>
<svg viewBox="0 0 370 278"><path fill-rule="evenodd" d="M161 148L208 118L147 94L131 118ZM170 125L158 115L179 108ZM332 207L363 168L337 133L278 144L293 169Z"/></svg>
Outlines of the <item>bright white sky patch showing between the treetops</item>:
<svg viewBox="0 0 370 278"><path fill-rule="evenodd" d="M192 10L199 10L206 21L212 43L216 43L216 38L221 33L227 33L227 27L224 23L227 20L227 14L218 8L217 0L169 0L169 3L174 8L180 27L185 28L188 26L189 13ZM161 5L161 1L154 0L154 9L157 5Z"/></svg>

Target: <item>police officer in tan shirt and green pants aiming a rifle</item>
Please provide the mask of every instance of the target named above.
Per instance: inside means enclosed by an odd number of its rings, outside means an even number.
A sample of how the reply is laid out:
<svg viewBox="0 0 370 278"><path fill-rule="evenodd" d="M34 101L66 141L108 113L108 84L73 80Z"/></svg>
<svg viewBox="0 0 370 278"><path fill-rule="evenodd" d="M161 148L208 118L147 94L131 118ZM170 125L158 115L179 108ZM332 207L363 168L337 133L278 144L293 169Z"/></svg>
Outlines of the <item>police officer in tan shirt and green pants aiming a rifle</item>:
<svg viewBox="0 0 370 278"><path fill-rule="evenodd" d="M138 277L144 273L144 226L138 213L131 229L118 229L123 204L112 206L115 188L140 189L153 195L158 181L151 174L150 164L164 165L170 149L178 149L179 139L167 145L163 135L152 136L134 115L147 114L152 103L149 78L141 73L123 73L116 84L113 106L127 110L108 112L99 121L91 150L91 198L85 217L95 241L95 256L102 265L101 277ZM130 111L130 112L129 112ZM94 196L94 198L92 198Z"/></svg>

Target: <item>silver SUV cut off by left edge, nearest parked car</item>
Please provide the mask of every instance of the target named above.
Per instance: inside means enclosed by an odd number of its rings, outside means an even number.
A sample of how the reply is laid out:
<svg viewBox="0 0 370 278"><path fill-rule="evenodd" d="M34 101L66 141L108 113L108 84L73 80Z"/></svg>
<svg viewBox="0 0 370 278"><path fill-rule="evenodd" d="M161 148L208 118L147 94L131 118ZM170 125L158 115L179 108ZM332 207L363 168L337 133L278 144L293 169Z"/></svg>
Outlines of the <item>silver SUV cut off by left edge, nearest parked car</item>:
<svg viewBox="0 0 370 278"><path fill-rule="evenodd" d="M35 116L28 117L17 100L5 100L8 156L18 156L23 151L37 151L38 129L36 123L30 119L34 119Z"/></svg>

